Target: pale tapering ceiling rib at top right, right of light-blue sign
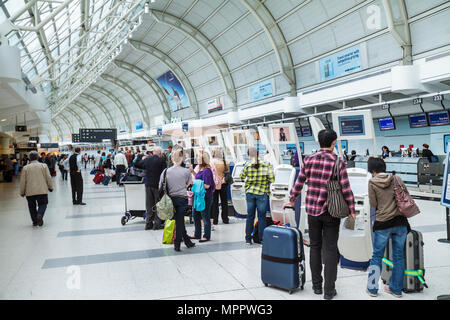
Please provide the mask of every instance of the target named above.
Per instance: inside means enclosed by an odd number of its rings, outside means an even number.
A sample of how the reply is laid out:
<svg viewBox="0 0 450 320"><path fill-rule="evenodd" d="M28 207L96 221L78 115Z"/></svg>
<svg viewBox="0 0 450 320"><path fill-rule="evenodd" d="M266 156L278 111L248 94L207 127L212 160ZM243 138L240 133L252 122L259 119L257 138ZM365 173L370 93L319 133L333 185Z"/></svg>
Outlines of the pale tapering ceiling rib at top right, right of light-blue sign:
<svg viewBox="0 0 450 320"><path fill-rule="evenodd" d="M403 64L412 64L411 31L404 0L383 0L386 19L394 39L403 49Z"/></svg>

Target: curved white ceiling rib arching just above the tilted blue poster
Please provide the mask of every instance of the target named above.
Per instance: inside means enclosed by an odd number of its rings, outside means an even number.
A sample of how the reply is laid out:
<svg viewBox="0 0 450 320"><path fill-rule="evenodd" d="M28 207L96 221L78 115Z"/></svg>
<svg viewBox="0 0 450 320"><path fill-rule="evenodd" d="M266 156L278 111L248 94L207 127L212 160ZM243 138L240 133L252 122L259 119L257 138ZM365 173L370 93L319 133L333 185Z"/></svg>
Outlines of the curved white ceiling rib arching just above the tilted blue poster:
<svg viewBox="0 0 450 320"><path fill-rule="evenodd" d="M175 61L173 61L172 58L169 57L167 54L147 43L136 40L130 40L129 43L134 49L157 58L159 61L165 64L170 69L170 71L172 71L175 74L175 76L178 78L178 80L180 80L180 82L183 84L184 89L186 90L186 94L188 95L191 108L194 109L195 112L195 118L199 119L200 112L198 110L197 96L195 95L194 88L192 87L191 81L189 81L188 77L186 76L184 71L178 66L178 64Z"/></svg>

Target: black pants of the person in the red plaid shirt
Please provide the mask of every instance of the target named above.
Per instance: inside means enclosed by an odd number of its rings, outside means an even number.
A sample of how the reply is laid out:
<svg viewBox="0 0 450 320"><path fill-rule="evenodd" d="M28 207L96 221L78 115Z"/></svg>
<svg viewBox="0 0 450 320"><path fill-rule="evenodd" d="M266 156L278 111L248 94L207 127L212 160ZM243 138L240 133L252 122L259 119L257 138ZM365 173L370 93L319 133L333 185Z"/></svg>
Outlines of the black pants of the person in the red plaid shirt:
<svg viewBox="0 0 450 320"><path fill-rule="evenodd" d="M322 288L322 245L324 245L324 276L325 294L332 294L335 289L339 252L337 242L339 238L340 219L333 218L328 212L320 216L308 215L310 237L310 267L313 288Z"/></svg>

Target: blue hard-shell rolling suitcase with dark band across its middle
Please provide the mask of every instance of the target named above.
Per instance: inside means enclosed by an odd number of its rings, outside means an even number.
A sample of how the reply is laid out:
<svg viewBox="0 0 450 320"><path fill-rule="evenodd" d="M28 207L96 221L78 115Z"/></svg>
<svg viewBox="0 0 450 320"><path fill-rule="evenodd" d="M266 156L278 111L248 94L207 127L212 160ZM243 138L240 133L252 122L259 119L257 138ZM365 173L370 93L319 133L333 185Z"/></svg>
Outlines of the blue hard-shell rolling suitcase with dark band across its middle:
<svg viewBox="0 0 450 320"><path fill-rule="evenodd" d="M303 290L306 282L302 233L296 228L269 226L264 229L261 254L261 279L264 285Z"/></svg>

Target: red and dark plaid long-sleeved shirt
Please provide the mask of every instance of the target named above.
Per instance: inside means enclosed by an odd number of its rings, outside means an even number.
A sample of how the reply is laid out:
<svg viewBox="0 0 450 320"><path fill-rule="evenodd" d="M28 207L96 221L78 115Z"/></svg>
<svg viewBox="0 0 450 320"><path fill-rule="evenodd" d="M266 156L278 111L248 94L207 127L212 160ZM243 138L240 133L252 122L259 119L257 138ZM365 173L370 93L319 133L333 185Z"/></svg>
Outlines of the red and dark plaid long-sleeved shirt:
<svg viewBox="0 0 450 320"><path fill-rule="evenodd" d="M291 189L290 201L295 202L302 191L303 184L308 181L306 213L311 216L319 216L327 211L327 182L330 181L336 157L337 155L333 152L323 149L306 157L295 186ZM347 201L350 213L355 213L355 199L350 189L347 169L342 158L339 161L339 166L339 180L344 199Z"/></svg>

